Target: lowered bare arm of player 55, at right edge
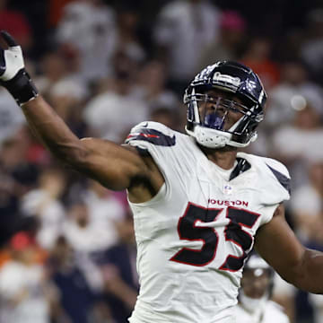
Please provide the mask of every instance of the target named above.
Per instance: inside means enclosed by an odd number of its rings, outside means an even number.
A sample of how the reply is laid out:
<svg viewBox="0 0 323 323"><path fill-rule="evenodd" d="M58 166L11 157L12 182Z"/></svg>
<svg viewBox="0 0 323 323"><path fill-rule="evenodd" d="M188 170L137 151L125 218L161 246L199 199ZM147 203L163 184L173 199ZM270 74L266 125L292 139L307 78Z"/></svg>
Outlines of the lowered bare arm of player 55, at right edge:
<svg viewBox="0 0 323 323"><path fill-rule="evenodd" d="M301 245L284 219L283 205L258 230L255 241L260 256L287 282L307 292L323 293L323 253Z"/></svg>

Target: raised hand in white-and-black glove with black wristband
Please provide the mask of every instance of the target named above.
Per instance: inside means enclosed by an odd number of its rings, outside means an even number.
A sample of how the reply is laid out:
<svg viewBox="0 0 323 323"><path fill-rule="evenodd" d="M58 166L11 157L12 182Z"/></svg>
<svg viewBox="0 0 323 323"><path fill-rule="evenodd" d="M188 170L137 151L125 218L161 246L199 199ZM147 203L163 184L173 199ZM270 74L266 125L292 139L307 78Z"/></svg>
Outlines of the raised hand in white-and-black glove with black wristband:
<svg viewBox="0 0 323 323"><path fill-rule="evenodd" d="M26 72L22 48L7 31L0 35L8 48L0 48L0 85L13 95L19 105L35 99L38 91Z"/></svg>

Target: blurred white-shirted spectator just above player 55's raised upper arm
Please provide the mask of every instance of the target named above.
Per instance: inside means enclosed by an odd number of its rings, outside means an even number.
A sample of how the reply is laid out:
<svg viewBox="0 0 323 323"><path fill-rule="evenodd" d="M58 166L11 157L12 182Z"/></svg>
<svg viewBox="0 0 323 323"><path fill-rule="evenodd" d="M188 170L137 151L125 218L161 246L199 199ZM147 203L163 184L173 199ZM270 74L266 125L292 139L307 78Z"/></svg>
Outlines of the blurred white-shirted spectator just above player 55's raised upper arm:
<svg viewBox="0 0 323 323"><path fill-rule="evenodd" d="M101 84L101 92L85 106L83 118L93 135L122 143L131 127L148 118L148 107L135 94L134 57L118 52L114 58L115 76Z"/></svg>

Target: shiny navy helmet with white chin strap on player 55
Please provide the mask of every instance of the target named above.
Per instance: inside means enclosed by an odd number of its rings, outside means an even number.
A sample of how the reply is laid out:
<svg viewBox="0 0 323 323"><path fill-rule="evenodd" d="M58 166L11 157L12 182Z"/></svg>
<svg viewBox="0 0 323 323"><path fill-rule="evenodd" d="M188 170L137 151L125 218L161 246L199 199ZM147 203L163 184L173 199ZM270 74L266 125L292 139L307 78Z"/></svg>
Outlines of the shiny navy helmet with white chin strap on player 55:
<svg viewBox="0 0 323 323"><path fill-rule="evenodd" d="M230 92L240 102L221 95L214 100L206 93L214 89ZM219 113L215 107L213 115L201 116L199 106L203 102L214 102L225 112ZM266 92L258 75L249 67L237 62L219 61L196 75L185 91L184 103L188 105L186 131L199 144L210 148L225 145L245 147L257 138L256 128L264 118ZM230 110L240 111L241 118L225 129Z"/></svg>

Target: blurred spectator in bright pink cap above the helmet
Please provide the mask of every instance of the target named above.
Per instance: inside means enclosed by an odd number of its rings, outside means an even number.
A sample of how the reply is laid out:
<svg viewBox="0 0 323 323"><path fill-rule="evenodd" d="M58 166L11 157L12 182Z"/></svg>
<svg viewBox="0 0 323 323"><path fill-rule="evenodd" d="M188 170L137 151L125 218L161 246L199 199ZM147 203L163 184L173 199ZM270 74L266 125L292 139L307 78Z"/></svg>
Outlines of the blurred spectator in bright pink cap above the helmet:
<svg viewBox="0 0 323 323"><path fill-rule="evenodd" d="M218 60L235 60L239 57L246 38L247 22L235 11L225 11L221 16L218 39L211 41L201 52L197 70L213 65Z"/></svg>

